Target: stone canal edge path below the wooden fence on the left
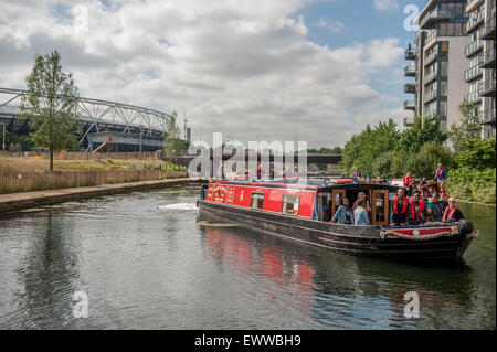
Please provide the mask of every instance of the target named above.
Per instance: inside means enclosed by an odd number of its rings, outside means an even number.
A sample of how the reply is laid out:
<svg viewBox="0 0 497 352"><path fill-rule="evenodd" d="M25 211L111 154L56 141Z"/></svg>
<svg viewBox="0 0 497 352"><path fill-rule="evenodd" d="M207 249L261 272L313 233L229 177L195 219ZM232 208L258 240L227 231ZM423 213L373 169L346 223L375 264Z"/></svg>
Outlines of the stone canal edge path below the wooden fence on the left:
<svg viewBox="0 0 497 352"><path fill-rule="evenodd" d="M22 192L0 195L0 213L13 212L22 209L47 205L61 202L77 201L94 196L142 191L162 186L201 182L201 179L167 179L119 184L101 184L85 188L70 188L36 192Z"/></svg>

